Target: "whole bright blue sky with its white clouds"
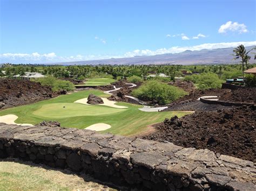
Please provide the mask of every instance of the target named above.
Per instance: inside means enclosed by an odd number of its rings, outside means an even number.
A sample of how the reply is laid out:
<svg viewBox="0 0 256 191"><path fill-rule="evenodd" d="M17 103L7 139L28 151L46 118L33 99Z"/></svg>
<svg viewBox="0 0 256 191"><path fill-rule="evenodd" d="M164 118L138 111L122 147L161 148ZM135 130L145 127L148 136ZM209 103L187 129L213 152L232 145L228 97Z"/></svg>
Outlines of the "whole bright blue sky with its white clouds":
<svg viewBox="0 0 256 191"><path fill-rule="evenodd" d="M0 0L0 63L256 45L255 0Z"/></svg>

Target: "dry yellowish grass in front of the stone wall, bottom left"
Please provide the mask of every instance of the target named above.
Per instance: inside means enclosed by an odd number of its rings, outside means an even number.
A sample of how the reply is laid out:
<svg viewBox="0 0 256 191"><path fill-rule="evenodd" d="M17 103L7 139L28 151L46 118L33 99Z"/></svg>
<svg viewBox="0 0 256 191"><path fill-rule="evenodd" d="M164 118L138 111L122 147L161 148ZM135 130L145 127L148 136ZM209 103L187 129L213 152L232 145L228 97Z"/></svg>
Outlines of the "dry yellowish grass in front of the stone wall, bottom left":
<svg viewBox="0 0 256 191"><path fill-rule="evenodd" d="M32 162L0 161L0 190L103 189L104 185L93 181L95 180L89 175L74 175L71 172L35 165Z"/></svg>

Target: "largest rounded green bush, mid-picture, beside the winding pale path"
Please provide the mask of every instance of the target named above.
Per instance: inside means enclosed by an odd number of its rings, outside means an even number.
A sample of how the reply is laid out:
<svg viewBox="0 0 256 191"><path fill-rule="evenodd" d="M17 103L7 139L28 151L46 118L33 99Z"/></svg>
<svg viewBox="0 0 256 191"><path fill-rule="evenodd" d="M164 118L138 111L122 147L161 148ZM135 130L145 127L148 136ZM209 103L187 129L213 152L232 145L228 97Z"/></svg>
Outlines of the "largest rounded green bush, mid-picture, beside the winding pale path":
<svg viewBox="0 0 256 191"><path fill-rule="evenodd" d="M155 101L160 105L171 103L186 94L184 90L157 80L150 80L132 91L134 97L146 101Z"/></svg>

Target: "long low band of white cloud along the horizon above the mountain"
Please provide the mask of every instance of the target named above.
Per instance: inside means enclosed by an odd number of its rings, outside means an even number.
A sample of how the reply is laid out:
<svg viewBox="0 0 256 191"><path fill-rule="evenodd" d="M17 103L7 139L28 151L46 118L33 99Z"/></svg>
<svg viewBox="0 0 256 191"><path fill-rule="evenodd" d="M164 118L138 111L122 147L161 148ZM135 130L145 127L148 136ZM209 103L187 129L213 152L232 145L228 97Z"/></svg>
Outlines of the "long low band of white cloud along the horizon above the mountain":
<svg viewBox="0 0 256 191"><path fill-rule="evenodd" d="M127 58L138 55L157 55L157 54L167 54L167 53L180 53L186 50L190 51L200 51L201 49L215 49L215 48L228 48L237 47L239 45L244 46L256 46L256 41L240 41L233 43L207 43L196 46L173 46L170 48L159 48L154 51L150 49L135 49L131 52L126 52L123 55L71 55L71 56L58 56L54 52L47 54L39 54L37 52L28 53L5 53L0 54L1 62L12 62L12 63L51 63L51 62L69 62L69 61L83 61L83 60L99 60L99 59L109 59L109 58Z"/></svg>

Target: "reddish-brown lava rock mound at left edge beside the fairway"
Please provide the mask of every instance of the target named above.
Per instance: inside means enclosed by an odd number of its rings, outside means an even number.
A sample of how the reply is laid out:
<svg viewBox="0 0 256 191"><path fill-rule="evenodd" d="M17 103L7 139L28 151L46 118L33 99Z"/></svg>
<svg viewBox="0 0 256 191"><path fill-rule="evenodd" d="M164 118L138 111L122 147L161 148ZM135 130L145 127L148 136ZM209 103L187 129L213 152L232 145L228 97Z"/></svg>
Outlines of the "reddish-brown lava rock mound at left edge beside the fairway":
<svg viewBox="0 0 256 191"><path fill-rule="evenodd" d="M38 82L0 78L0 109L35 103L57 96Z"/></svg>

